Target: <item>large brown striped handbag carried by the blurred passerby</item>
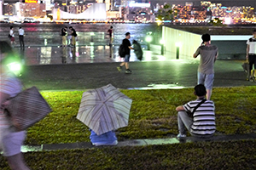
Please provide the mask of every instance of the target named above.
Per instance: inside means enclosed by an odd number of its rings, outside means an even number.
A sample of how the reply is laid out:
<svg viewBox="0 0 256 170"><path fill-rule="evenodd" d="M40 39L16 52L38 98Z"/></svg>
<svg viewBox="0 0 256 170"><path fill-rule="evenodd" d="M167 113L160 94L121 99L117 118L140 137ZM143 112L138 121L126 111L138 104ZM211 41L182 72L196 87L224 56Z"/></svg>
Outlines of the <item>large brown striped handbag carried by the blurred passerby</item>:
<svg viewBox="0 0 256 170"><path fill-rule="evenodd" d="M27 88L9 99L4 109L18 131L32 127L52 111L36 87Z"/></svg>

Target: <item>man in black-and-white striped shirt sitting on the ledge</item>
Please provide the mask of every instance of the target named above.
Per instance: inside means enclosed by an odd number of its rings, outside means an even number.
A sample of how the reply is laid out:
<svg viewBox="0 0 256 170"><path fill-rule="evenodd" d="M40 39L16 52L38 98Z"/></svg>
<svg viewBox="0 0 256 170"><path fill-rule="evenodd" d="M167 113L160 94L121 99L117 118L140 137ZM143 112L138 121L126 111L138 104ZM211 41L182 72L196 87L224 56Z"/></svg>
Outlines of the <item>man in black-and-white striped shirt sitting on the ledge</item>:
<svg viewBox="0 0 256 170"><path fill-rule="evenodd" d="M215 133L214 103L212 100L205 99L207 89L204 85L198 84L194 89L197 99L176 108L176 111L178 111L178 139L186 137L186 128L192 136L199 138L212 137ZM189 113L192 113L192 115L189 116Z"/></svg>

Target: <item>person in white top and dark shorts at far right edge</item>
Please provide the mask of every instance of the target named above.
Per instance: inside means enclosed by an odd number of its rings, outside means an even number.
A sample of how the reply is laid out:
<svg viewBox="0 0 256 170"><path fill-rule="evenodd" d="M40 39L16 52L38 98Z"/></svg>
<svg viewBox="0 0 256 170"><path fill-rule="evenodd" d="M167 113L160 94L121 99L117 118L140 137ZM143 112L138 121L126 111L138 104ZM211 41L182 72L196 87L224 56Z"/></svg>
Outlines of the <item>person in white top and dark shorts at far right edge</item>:
<svg viewBox="0 0 256 170"><path fill-rule="evenodd" d="M253 30L253 37L250 37L247 40L247 62L250 65L250 71L249 71L249 77L248 81L256 81L256 29ZM254 71L253 71L253 65L254 65Z"/></svg>

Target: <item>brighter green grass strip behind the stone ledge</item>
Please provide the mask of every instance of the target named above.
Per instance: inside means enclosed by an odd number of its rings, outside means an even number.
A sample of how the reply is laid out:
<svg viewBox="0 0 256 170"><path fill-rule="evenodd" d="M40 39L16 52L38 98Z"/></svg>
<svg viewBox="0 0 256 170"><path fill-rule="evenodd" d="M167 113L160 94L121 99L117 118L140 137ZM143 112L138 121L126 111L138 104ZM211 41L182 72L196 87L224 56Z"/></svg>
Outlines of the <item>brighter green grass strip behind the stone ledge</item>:
<svg viewBox="0 0 256 170"><path fill-rule="evenodd" d="M213 88L217 134L256 132L256 87ZM116 131L120 140L170 138L177 134L177 105L195 99L192 88L122 90L132 101L128 127ZM90 141L89 128L76 118L82 91L42 92L52 112L27 130L26 144Z"/></svg>

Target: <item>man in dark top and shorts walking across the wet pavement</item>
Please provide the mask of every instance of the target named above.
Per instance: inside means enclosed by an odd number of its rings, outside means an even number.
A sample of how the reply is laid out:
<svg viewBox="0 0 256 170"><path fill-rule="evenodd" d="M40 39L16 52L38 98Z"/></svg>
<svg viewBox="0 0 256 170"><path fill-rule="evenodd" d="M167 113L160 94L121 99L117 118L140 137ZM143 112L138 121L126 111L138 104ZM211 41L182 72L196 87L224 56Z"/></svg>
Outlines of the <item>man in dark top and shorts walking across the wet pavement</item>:
<svg viewBox="0 0 256 170"><path fill-rule="evenodd" d="M118 71L122 71L122 67L125 65L125 73L126 74L131 74L131 70L129 69L129 61L130 61L130 53L131 53L131 42L129 41L129 39L131 38L131 34L130 32L126 32L125 33L125 39L123 39L123 48L125 49L125 61L122 62L118 67Z"/></svg>

